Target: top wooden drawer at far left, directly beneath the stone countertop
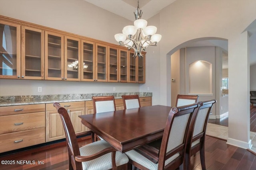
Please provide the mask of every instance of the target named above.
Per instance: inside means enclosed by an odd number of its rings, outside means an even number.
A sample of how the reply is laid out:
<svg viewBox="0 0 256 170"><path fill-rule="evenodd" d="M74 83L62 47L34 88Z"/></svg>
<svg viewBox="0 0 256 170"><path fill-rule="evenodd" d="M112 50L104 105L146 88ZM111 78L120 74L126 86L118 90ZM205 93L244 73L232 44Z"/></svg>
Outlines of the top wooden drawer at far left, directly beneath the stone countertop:
<svg viewBox="0 0 256 170"><path fill-rule="evenodd" d="M45 111L45 104L0 107L0 116Z"/></svg>

